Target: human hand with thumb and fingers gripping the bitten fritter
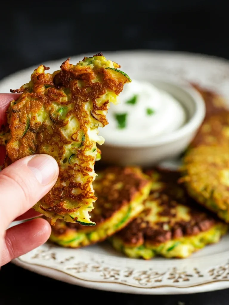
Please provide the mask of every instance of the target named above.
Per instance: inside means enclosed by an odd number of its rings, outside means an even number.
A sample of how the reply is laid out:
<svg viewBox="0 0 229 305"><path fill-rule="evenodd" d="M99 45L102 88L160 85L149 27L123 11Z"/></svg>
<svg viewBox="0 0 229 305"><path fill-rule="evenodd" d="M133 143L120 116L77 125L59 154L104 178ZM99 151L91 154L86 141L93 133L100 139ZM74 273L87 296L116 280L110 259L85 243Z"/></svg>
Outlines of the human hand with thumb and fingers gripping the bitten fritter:
<svg viewBox="0 0 229 305"><path fill-rule="evenodd" d="M19 94L0 94L0 126L5 110ZM0 146L0 165L5 148ZM40 214L31 209L55 184L59 173L56 160L49 155L32 155L20 159L0 172L0 266L31 251L47 241L49 223L35 218L8 226L12 221L31 219Z"/></svg>

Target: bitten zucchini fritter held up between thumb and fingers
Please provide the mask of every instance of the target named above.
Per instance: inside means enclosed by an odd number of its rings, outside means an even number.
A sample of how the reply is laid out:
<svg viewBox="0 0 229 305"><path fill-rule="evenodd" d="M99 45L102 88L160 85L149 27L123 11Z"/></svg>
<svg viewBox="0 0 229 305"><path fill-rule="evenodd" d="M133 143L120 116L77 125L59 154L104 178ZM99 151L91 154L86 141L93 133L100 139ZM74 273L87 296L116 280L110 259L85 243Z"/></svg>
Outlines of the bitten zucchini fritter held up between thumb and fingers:
<svg viewBox="0 0 229 305"><path fill-rule="evenodd" d="M94 225L88 212L96 200L92 181L96 142L103 144L98 127L108 124L110 102L116 103L129 77L101 53L76 65L67 59L53 74L43 65L18 90L7 111L8 125L0 144L6 144L4 167L25 156L49 154L59 164L59 178L35 206L52 218Z"/></svg>

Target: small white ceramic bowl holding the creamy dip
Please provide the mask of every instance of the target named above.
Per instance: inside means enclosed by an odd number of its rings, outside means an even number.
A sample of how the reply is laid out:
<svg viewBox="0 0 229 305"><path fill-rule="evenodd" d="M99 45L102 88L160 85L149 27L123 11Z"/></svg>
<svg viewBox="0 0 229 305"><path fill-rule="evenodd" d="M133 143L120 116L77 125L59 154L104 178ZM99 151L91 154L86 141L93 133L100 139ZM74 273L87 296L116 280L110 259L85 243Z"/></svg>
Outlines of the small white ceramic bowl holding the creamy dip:
<svg viewBox="0 0 229 305"><path fill-rule="evenodd" d="M162 160L179 156L190 144L205 117L205 103L202 96L189 84L154 80L155 87L172 95L187 113L186 123L169 134L148 138L141 142L121 144L105 139L99 148L102 162L117 165L150 166Z"/></svg>

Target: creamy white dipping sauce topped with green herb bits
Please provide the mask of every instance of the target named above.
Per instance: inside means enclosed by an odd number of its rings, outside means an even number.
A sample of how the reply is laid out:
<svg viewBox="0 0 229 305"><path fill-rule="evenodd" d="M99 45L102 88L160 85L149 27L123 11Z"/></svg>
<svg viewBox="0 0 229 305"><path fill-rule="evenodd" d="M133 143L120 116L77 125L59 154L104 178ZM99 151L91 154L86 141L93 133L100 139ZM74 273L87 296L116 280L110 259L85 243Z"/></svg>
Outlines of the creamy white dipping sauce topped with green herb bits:
<svg viewBox="0 0 229 305"><path fill-rule="evenodd" d="M119 99L108 111L109 124L100 130L107 142L142 142L171 133L186 121L180 102L145 81L126 84Z"/></svg>

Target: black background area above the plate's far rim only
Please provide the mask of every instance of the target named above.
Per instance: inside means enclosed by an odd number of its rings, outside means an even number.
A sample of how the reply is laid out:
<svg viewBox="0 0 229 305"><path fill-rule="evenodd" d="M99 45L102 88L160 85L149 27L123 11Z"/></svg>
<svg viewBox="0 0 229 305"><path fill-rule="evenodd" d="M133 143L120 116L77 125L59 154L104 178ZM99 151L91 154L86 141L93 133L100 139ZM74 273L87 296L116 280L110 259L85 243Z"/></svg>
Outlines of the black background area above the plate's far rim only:
<svg viewBox="0 0 229 305"><path fill-rule="evenodd" d="M229 58L228 9L227 0L6 0L0 9L0 79L97 50L179 50Z"/></svg>

